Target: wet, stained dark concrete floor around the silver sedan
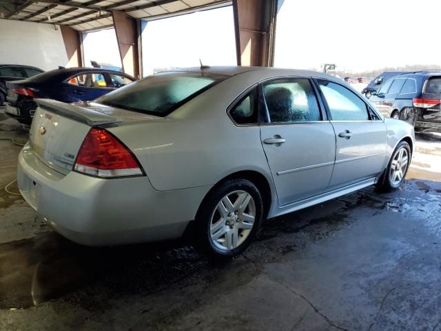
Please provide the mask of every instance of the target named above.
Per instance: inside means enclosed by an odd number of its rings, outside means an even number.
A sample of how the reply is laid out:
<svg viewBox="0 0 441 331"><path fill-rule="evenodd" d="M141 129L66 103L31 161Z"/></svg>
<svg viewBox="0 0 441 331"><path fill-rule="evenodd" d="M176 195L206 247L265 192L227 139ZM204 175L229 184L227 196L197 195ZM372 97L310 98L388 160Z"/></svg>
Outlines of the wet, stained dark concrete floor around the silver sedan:
<svg viewBox="0 0 441 331"><path fill-rule="evenodd" d="M0 138L25 140L2 119ZM19 149L0 140L0 330L441 330L441 136L418 136L400 190L267 221L223 263L63 239L3 190Z"/></svg>

